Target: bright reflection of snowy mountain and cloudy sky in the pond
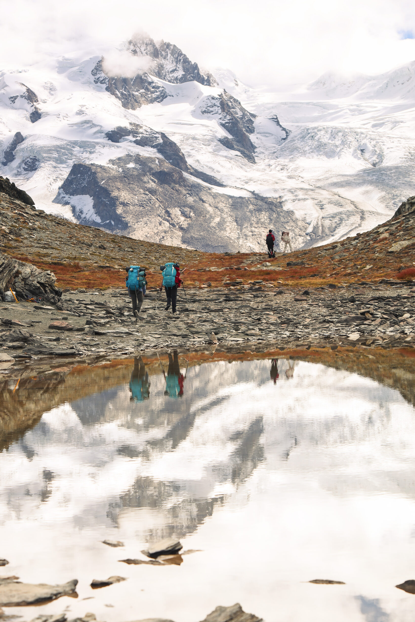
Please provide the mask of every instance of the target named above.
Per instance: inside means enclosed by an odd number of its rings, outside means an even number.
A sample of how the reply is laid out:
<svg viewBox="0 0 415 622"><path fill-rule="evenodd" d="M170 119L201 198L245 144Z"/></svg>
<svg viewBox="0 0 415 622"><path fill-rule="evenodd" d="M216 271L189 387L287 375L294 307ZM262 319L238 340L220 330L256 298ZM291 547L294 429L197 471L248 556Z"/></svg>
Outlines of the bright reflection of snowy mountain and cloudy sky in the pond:
<svg viewBox="0 0 415 622"><path fill-rule="evenodd" d="M398 391L286 360L131 388L74 394L0 453L1 574L79 580L77 600L7 613L197 622L240 602L266 622L414 620L394 587L415 578L415 412ZM200 552L118 561L169 536ZM111 575L128 580L91 590Z"/></svg>

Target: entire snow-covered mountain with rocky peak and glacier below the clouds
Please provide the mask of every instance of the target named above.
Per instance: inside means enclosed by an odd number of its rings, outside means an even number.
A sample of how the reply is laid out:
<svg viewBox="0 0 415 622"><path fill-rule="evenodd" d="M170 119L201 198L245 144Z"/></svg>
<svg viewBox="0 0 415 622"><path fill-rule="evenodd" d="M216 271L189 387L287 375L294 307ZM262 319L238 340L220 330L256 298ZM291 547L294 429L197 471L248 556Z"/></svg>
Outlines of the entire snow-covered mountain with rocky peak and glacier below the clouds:
<svg viewBox="0 0 415 622"><path fill-rule="evenodd" d="M414 194L415 62L265 93L136 37L0 72L0 174L37 207L138 239L312 246L388 220Z"/></svg>

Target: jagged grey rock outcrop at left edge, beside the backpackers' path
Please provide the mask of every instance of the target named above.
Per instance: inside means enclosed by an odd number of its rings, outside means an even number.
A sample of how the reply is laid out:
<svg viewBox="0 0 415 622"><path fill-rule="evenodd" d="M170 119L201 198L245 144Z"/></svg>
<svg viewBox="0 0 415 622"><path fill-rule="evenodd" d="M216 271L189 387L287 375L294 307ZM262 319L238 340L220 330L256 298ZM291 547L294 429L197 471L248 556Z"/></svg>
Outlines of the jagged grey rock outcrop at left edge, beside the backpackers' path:
<svg viewBox="0 0 415 622"><path fill-rule="evenodd" d="M56 304L62 290L55 287L55 275L44 272L24 261L0 254L0 297L10 288L16 292L17 300L40 297L45 302Z"/></svg>

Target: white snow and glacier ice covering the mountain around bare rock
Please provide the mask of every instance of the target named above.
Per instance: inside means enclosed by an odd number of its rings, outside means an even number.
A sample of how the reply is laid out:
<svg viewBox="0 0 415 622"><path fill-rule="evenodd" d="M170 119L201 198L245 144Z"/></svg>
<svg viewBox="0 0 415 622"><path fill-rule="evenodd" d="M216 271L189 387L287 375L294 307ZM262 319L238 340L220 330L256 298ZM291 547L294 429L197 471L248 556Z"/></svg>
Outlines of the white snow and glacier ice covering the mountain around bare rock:
<svg viewBox="0 0 415 622"><path fill-rule="evenodd" d="M157 66L159 75L184 80L169 54L162 74ZM164 99L131 109L123 107L119 91L114 96L106 90L108 79L95 69L100 58L49 57L0 71L0 175L24 188L37 208L106 226L89 195L65 196L62 205L58 190L73 164L111 167L114 159L136 154L163 159L155 148L135 144L134 136L119 142L106 136L131 126L164 132L190 167L221 182L223 187L198 182L213 197L261 195L281 202L302 223L298 232L305 224L306 233L294 235L297 248L368 230L415 193L415 62L376 77L328 74L291 93L253 90L223 69L212 72L215 79L202 76L205 83L172 83L152 75L150 67L145 76ZM241 103L233 114L253 154L228 131L226 94ZM254 231L258 222L254 213L249 217ZM159 241L154 222L142 226L142 236ZM262 248L262 239L255 246L248 238L241 250ZM163 231L164 243L170 239L180 243L171 225Z"/></svg>

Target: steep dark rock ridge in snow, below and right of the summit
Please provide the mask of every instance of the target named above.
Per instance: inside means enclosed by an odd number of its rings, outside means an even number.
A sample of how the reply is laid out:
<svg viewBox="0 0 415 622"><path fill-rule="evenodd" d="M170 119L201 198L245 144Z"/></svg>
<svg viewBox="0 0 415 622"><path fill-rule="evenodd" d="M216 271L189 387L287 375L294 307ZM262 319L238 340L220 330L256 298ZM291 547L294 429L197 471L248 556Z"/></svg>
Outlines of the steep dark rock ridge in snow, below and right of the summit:
<svg viewBox="0 0 415 622"><path fill-rule="evenodd" d="M203 98L198 107L200 114L217 116L218 123L231 135L221 137L219 141L227 149L238 151L249 162L255 162L253 145L248 134L253 134L256 114L249 113L240 101L223 91L218 96L209 95Z"/></svg>

